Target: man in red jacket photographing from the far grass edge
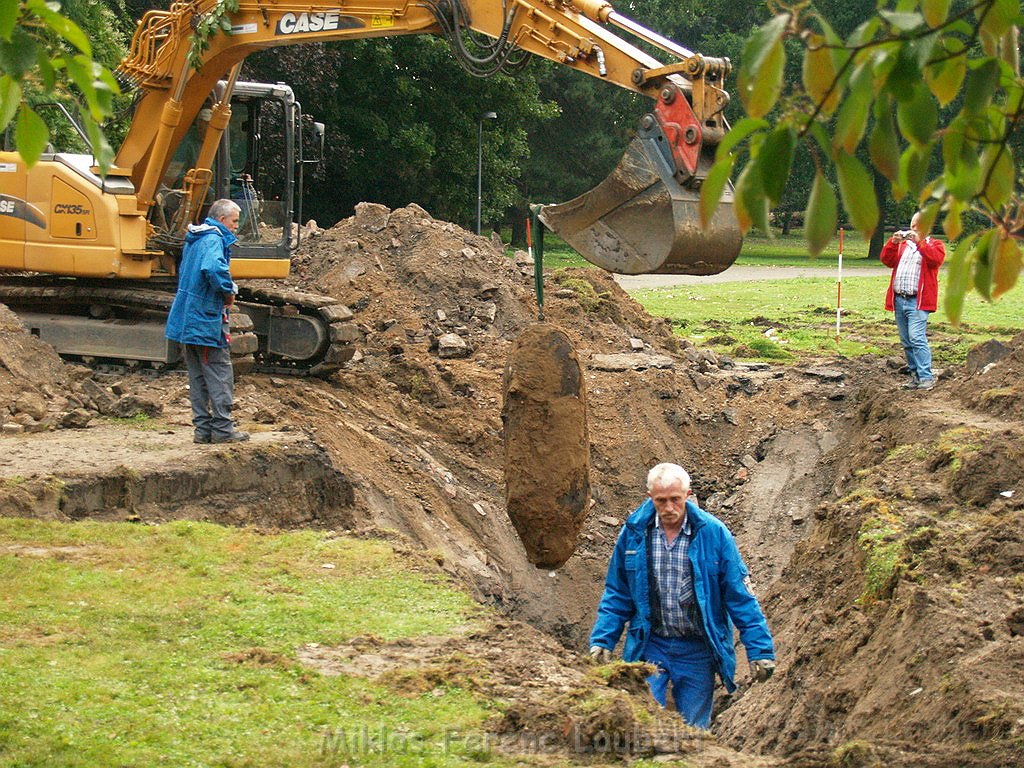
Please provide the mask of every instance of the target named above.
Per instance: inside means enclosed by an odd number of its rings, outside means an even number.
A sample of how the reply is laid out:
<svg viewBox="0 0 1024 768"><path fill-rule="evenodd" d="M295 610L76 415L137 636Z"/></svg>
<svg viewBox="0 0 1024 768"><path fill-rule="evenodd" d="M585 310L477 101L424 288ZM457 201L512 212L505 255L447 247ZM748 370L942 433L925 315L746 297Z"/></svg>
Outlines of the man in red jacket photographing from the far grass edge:
<svg viewBox="0 0 1024 768"><path fill-rule="evenodd" d="M893 270L886 309L896 312L896 330L910 369L904 389L935 386L928 315L939 300L939 267L945 258L946 247L922 231L920 212L910 219L909 230L896 232L882 248L882 263Z"/></svg>

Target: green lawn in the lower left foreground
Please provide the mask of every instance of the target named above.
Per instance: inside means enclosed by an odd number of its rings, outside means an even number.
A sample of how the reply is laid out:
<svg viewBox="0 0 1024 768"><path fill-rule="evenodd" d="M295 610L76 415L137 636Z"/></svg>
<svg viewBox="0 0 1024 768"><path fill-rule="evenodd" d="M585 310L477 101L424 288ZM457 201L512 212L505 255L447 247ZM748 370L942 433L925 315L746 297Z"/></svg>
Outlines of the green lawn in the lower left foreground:
<svg viewBox="0 0 1024 768"><path fill-rule="evenodd" d="M294 660L306 643L443 634L479 615L386 544L7 518L0 596L0 764L478 764L471 745L443 749L444 729L489 714L468 691L396 695ZM254 648L264 660L247 660ZM389 749L374 746L381 733ZM347 734L352 754L322 754L325 734L335 748Z"/></svg>

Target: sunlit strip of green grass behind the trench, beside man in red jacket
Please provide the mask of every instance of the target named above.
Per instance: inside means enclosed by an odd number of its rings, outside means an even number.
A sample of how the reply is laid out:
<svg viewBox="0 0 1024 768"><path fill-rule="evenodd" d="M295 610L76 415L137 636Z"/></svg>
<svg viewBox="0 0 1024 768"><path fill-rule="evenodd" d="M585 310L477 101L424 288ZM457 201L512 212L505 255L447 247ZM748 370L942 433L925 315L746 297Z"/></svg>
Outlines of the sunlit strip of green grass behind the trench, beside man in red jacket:
<svg viewBox="0 0 1024 768"><path fill-rule="evenodd" d="M633 296L652 315L668 317L682 336L737 358L899 354L893 315L883 306L887 281L886 276L843 279L839 343L835 279L677 286L636 291ZM943 294L940 279L940 306ZM1024 291L1012 291L994 304L970 294L964 318L954 328L941 309L932 315L929 336L939 365L963 362L974 344L1006 340L1024 329Z"/></svg>

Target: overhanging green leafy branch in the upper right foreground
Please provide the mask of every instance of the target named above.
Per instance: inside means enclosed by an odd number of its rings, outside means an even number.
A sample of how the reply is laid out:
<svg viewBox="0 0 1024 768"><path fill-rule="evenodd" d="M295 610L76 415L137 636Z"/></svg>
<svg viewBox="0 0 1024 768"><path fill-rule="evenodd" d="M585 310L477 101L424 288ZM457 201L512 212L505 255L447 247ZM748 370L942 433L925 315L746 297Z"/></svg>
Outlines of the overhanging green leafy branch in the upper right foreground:
<svg viewBox="0 0 1024 768"><path fill-rule="evenodd" d="M896 199L920 206L927 227L941 216L946 236L956 240L972 214L984 222L966 232L950 260L946 311L954 322L968 290L991 299L1013 287L1024 229L1014 163L1024 140L1019 3L899 0L845 37L806 1L771 7L775 15L743 50L737 85L748 117L719 148L715 183L703 187L703 215L717 205L721 180L742 153L750 162L736 182L740 225L767 228L768 208L781 199L799 143L816 168L806 212L811 252L820 252L836 230L839 201L829 168L850 221L869 238L880 206L871 174L857 158L866 147ZM787 39L800 42L803 73L788 89ZM776 104L778 117L767 119ZM952 109L943 117L946 105ZM938 172L930 170L935 154L942 158Z"/></svg>

